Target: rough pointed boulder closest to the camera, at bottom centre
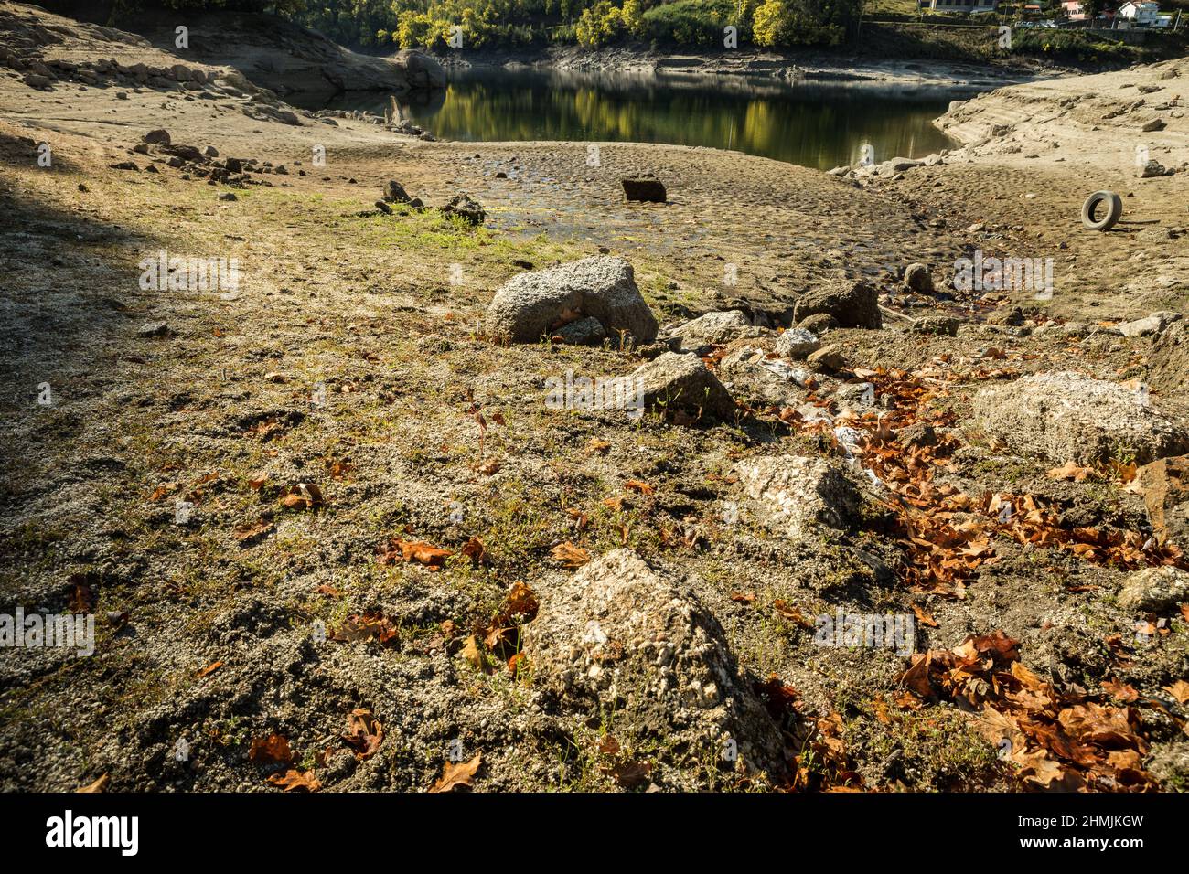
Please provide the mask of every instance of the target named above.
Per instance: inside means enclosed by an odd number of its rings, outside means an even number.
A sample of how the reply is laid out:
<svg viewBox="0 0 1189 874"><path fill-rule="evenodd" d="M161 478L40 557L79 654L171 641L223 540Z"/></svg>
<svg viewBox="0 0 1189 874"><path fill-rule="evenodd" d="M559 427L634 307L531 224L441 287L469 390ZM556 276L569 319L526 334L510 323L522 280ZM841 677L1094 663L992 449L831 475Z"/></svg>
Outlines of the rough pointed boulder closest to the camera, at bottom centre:
<svg viewBox="0 0 1189 874"><path fill-rule="evenodd" d="M681 747L702 761L730 749L738 771L782 767L776 725L690 579L616 549L542 586L540 601L524 653L551 710L577 723L614 710L621 747Z"/></svg>

